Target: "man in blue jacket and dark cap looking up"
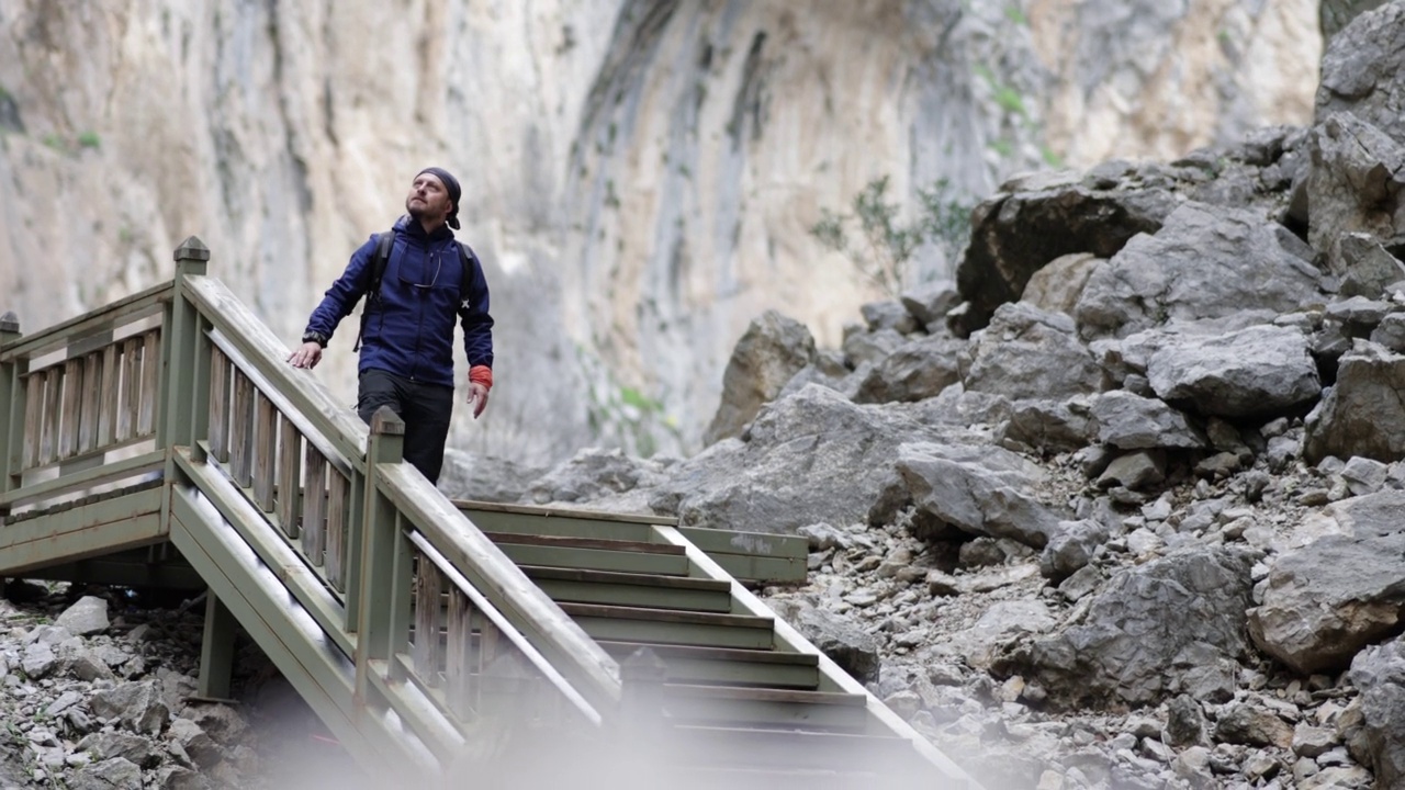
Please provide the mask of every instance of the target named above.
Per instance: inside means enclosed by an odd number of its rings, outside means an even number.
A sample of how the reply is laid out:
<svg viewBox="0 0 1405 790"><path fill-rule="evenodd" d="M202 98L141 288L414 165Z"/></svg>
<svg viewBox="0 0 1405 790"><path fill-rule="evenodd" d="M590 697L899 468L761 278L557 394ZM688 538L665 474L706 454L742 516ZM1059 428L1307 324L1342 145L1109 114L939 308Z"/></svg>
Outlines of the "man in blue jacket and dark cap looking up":
<svg viewBox="0 0 1405 790"><path fill-rule="evenodd" d="M458 180L440 167L414 176L406 215L391 231L395 239L379 288L368 292L379 240L371 236L312 311L302 346L288 357L292 367L316 367L337 323L365 295L357 413L370 423L377 409L391 406L405 420L405 460L430 482L438 482L454 412L455 316L464 325L473 419L493 387L488 280L478 256L468 247L461 252L454 239L461 194Z"/></svg>

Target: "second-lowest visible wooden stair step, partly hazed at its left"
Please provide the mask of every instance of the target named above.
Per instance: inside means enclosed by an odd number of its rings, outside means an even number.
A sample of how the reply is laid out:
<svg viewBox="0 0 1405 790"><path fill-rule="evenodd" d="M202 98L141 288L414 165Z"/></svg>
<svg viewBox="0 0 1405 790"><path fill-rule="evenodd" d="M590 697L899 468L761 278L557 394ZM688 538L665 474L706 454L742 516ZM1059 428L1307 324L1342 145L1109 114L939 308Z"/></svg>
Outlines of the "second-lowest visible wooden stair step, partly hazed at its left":
<svg viewBox="0 0 1405 790"><path fill-rule="evenodd" d="M663 710L680 724L863 734L868 697L798 689L666 685Z"/></svg>

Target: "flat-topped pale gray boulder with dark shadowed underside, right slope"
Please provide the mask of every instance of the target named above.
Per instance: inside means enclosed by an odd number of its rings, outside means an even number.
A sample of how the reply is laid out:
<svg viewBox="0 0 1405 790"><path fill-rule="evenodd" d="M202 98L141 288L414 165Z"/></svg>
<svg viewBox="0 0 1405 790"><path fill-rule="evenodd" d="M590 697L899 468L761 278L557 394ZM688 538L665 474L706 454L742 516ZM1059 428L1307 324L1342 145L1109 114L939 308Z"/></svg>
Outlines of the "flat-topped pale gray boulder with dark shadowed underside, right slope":
<svg viewBox="0 0 1405 790"><path fill-rule="evenodd" d="M1168 403L1220 417L1291 413L1322 392L1308 337L1283 326L1168 339L1151 356L1146 378Z"/></svg>

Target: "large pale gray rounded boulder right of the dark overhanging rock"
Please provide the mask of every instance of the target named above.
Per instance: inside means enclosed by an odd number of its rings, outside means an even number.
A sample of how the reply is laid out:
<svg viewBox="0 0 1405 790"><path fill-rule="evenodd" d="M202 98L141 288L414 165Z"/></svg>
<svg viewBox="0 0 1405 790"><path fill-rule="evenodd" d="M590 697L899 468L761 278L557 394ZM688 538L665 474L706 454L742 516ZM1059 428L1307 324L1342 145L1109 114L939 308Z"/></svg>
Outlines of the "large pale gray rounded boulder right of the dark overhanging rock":
<svg viewBox="0 0 1405 790"><path fill-rule="evenodd" d="M1075 308L1079 333L1123 337L1172 319L1319 305L1314 254L1252 211L1187 202L1093 271Z"/></svg>

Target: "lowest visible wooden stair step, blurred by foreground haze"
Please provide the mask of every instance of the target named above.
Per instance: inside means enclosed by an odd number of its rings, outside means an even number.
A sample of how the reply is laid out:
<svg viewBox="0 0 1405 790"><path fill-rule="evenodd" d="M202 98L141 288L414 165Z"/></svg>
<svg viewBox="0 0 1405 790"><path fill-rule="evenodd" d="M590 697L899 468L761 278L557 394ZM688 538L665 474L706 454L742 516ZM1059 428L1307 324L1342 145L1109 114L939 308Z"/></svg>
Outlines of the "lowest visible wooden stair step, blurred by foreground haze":
<svg viewBox="0 0 1405 790"><path fill-rule="evenodd" d="M680 725L670 730L670 759L680 766L929 775L905 738L746 727ZM940 784L929 784L940 787ZM887 787L874 784L873 787Z"/></svg>

